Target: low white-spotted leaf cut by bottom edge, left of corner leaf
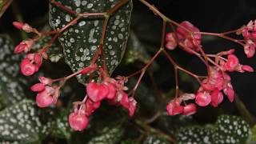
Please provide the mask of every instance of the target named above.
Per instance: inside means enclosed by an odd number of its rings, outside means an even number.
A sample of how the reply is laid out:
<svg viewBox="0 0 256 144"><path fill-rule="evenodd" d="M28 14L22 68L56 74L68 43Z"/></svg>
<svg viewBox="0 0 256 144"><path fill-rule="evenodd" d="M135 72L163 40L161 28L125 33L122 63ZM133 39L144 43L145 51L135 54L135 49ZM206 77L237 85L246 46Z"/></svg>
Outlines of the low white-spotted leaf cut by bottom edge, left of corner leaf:
<svg viewBox="0 0 256 144"><path fill-rule="evenodd" d="M183 143L212 143L214 134L213 130L204 127L187 127L182 128L176 135L177 142Z"/></svg>

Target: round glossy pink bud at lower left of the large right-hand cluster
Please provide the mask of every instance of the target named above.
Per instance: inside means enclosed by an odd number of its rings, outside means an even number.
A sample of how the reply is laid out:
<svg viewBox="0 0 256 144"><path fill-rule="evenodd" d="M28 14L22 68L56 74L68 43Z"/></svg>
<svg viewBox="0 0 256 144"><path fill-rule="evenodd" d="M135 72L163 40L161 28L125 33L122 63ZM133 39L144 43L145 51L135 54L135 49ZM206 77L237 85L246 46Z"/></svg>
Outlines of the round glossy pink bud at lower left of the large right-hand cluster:
<svg viewBox="0 0 256 144"><path fill-rule="evenodd" d="M195 96L195 102L198 104L198 106L207 106L210 104L210 94L208 92L198 92L198 94Z"/></svg>

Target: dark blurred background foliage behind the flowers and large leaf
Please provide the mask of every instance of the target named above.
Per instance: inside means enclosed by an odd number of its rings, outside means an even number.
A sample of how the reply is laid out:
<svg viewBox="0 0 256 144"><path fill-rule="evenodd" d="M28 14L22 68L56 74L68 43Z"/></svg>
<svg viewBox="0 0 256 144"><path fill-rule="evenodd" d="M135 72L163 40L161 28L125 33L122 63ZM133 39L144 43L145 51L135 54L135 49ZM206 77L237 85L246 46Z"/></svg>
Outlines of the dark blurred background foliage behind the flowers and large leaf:
<svg viewBox="0 0 256 144"><path fill-rule="evenodd" d="M0 0L0 7L4 2L8 0ZM177 22L188 20L202 31L233 30L256 18L254 0L150 2L166 16ZM103 102L101 108L90 118L90 125L86 130L70 130L67 115L72 110L72 102L81 100L85 94L84 86L75 78L62 89L57 106L39 110L34 106L35 97L29 90L37 82L38 75L58 78L71 74L71 70L61 58L58 62L44 62L40 72L32 78L19 74L18 65L22 56L15 56L12 50L18 42L30 35L14 29L11 22L27 22L42 30L48 24L48 5L46 0L14 0L0 18L0 143L256 142L255 73L231 74L234 90L238 95L234 103L225 99L218 108L199 108L193 116L168 116L165 106L173 97L175 84L172 66L164 57L159 57L154 62L136 91L138 110L134 118L128 118L126 110ZM158 50L162 21L136 0L130 28L125 58L114 71L113 77L139 70ZM242 63L256 67L255 57L246 58L242 47L232 42L206 37L203 38L203 46L207 53L235 48L235 54ZM55 53L59 53L58 50L53 52ZM186 69L196 74L206 73L198 58L182 50L174 50L170 54ZM8 70L10 67L13 68ZM128 86L134 86L136 79L131 78ZM187 74L180 73L179 79L181 90L191 93L197 90L197 82Z"/></svg>

